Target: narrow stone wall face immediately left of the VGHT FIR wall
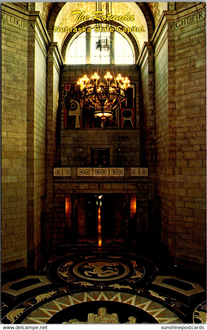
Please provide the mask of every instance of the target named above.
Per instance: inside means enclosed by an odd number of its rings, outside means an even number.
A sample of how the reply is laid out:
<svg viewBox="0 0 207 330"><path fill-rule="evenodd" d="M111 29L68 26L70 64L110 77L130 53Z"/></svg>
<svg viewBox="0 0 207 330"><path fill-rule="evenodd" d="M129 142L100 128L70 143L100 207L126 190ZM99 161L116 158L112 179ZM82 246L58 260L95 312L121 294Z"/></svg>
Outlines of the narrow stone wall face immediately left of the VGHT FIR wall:
<svg viewBox="0 0 207 330"><path fill-rule="evenodd" d="M165 28L155 46L155 193L162 196L162 243L168 246L168 40Z"/></svg>

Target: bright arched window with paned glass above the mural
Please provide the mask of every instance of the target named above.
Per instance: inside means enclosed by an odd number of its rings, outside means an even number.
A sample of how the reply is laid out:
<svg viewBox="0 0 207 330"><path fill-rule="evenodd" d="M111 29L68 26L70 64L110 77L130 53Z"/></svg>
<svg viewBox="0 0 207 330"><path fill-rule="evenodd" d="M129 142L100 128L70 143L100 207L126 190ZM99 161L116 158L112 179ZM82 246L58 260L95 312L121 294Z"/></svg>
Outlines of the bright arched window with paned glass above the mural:
<svg viewBox="0 0 207 330"><path fill-rule="evenodd" d="M111 41L111 48L97 49L97 41L107 39ZM68 45L66 49L66 64L134 64L134 51L130 41L121 33L115 31L83 32Z"/></svg>

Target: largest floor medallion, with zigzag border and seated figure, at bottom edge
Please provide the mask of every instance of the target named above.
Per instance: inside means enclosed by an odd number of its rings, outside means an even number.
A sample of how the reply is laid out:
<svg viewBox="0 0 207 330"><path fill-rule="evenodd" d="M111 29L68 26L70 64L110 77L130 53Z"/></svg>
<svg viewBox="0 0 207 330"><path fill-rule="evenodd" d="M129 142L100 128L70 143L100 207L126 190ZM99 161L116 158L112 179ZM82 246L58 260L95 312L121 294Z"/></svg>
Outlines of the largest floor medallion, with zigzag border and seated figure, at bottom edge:
<svg viewBox="0 0 207 330"><path fill-rule="evenodd" d="M65 294L45 300L25 316L21 309L15 312L19 313L15 323L22 324L183 323L176 314L151 299L115 291ZM21 317L21 322L18 322L18 317ZM11 313L6 318L11 319Z"/></svg>

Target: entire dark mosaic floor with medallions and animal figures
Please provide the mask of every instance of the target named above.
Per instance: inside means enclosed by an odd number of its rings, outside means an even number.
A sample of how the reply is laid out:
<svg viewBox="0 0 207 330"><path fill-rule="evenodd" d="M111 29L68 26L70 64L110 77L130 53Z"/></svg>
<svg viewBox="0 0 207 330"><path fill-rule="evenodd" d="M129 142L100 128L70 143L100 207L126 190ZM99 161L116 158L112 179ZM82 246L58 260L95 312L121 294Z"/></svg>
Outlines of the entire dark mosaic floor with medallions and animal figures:
<svg viewBox="0 0 207 330"><path fill-rule="evenodd" d="M135 254L53 255L2 285L2 323L206 323L206 288Z"/></svg>

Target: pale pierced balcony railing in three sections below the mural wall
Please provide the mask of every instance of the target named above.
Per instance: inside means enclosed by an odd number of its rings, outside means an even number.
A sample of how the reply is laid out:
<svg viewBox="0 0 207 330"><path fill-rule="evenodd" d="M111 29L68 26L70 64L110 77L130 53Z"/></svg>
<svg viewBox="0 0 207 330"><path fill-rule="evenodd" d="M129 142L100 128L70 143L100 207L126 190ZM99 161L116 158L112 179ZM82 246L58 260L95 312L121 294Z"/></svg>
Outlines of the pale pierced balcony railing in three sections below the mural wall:
<svg viewBox="0 0 207 330"><path fill-rule="evenodd" d="M55 167L54 177L70 177L70 167ZM78 167L78 177L124 177L124 167ZM131 177L147 177L146 167L131 167Z"/></svg>

